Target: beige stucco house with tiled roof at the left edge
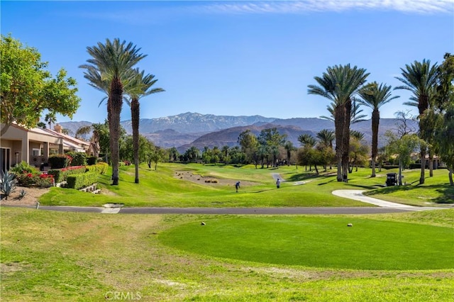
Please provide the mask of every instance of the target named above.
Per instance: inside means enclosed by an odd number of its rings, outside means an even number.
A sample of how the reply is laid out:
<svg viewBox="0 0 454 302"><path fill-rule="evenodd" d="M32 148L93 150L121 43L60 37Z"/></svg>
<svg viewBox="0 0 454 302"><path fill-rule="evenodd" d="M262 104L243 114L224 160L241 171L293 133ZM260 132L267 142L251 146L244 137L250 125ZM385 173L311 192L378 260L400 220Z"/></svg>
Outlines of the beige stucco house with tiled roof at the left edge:
<svg viewBox="0 0 454 302"><path fill-rule="evenodd" d="M41 163L48 162L50 155L64 154L70 150L88 150L89 143L65 135L61 130L58 124L55 125L55 130L10 125L0 138L0 170L9 170L21 161L39 167Z"/></svg>

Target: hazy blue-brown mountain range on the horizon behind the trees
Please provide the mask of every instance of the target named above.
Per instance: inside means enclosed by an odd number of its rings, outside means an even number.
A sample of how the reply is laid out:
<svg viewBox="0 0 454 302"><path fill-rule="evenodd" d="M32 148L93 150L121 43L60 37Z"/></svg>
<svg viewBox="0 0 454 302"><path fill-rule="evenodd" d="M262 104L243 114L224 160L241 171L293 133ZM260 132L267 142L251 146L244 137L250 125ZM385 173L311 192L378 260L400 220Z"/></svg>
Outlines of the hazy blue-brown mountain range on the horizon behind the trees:
<svg viewBox="0 0 454 302"><path fill-rule="evenodd" d="M418 128L416 121L407 121ZM396 130L397 119L380 119L379 146L385 145L383 134L387 130ZM70 130L74 135L77 129L91 125L88 121L63 122L63 128ZM131 121L122 121L121 125L126 133L131 134ZM212 114L182 113L177 116L164 118L140 119L139 132L160 147L177 147L179 152L184 152L191 146L203 149L207 147L232 147L238 145L238 135L245 130L251 130L255 135L266 128L277 128L280 134L286 134L295 146L299 146L298 137L308 133L316 135L322 129L334 130L334 123L322 118L266 118L263 116L215 116ZM352 130L365 134L365 141L372 140L371 121L361 121L351 125Z"/></svg>

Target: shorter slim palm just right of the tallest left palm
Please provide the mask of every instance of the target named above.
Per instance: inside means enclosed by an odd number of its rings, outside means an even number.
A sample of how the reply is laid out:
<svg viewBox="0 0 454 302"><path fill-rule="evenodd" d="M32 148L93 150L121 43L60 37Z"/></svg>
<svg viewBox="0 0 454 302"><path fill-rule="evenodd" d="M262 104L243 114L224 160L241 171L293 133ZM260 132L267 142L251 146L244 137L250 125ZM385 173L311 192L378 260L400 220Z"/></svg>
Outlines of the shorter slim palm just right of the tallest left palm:
<svg viewBox="0 0 454 302"><path fill-rule="evenodd" d="M156 94L165 91L162 88L152 88L157 82L153 74L146 74L134 69L134 79L125 87L125 92L128 94L128 104L131 106L131 122L133 126L133 155L135 166L135 184L139 183L139 121L140 121L140 103L139 99L143 96Z"/></svg>

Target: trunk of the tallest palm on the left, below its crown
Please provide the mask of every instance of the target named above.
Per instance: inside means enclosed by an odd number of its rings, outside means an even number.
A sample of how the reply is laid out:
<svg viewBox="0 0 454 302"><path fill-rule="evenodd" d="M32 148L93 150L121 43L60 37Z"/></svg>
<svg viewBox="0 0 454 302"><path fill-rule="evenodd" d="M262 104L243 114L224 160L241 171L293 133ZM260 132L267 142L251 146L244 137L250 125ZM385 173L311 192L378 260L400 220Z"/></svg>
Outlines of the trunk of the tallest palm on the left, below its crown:
<svg viewBox="0 0 454 302"><path fill-rule="evenodd" d="M112 185L118 186L118 162L120 160L120 113L123 104L123 84L120 79L111 82L111 114L109 121L111 160L112 160Z"/></svg>

